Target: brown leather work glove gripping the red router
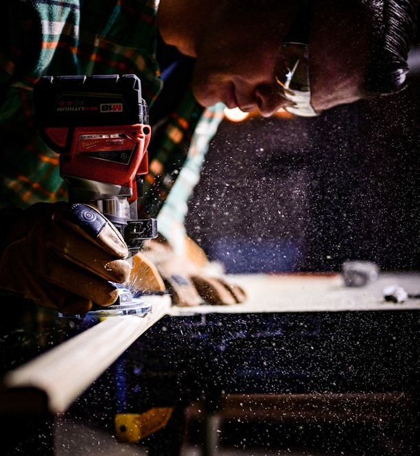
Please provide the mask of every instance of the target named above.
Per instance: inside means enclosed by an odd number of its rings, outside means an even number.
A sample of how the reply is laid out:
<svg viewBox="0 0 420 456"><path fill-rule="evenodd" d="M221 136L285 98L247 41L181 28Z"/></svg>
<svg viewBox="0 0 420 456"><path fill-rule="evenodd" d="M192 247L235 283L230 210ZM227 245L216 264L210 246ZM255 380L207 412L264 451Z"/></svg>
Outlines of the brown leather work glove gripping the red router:
<svg viewBox="0 0 420 456"><path fill-rule="evenodd" d="M62 313L84 314L118 297L128 248L97 209L84 204L37 203L2 209L0 288Z"/></svg>

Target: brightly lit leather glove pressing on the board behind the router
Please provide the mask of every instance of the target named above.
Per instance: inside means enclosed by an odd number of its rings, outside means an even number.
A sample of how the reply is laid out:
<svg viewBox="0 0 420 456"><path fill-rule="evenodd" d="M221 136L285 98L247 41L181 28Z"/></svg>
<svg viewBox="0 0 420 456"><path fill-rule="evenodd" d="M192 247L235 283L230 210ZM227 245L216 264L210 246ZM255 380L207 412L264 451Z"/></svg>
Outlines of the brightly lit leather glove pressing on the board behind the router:
<svg viewBox="0 0 420 456"><path fill-rule="evenodd" d="M162 237L146 240L133 258L130 286L144 293L165 288L176 306L231 305L246 299L244 290L210 271L205 253L188 238L187 255L178 255Z"/></svg>

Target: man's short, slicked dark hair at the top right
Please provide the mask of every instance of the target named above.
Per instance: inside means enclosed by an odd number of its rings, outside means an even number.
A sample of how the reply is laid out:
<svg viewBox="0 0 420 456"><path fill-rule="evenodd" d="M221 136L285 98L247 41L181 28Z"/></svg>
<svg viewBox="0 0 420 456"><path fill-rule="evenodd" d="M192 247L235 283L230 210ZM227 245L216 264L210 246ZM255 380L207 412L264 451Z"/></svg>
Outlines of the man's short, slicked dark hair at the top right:
<svg viewBox="0 0 420 456"><path fill-rule="evenodd" d="M408 75L408 52L417 27L419 0L375 0L380 14L377 45L373 47L365 78L371 95L401 90Z"/></svg>

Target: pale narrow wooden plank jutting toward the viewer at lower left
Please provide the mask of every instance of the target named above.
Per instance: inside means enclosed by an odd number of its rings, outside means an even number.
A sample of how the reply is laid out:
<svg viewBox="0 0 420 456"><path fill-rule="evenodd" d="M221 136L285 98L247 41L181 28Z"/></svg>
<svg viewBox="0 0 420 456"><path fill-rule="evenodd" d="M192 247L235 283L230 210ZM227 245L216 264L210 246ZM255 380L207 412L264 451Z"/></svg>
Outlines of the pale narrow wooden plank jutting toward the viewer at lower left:
<svg viewBox="0 0 420 456"><path fill-rule="evenodd" d="M10 390L32 389L47 396L49 413L60 413L93 383L138 337L167 314L168 295L148 297L152 312L108 317L5 375ZM22 411L21 411L22 413Z"/></svg>

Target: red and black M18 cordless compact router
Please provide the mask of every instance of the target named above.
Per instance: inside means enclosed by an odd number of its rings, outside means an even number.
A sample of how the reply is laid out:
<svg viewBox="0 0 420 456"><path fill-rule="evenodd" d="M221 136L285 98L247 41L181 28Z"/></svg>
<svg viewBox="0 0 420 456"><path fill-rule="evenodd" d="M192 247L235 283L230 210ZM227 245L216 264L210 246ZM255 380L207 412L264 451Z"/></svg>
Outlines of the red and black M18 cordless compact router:
<svg viewBox="0 0 420 456"><path fill-rule="evenodd" d="M155 238L156 219L137 220L150 141L139 78L45 76L34 86L34 102L40 135L60 154L69 201L97 207L119 229L131 254L143 240ZM122 301L132 302L129 290L121 291L118 304ZM112 315L120 313L115 305L106 310L113 308Z"/></svg>

